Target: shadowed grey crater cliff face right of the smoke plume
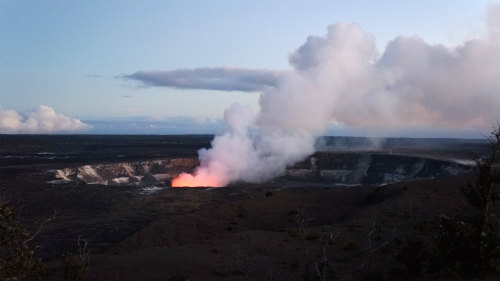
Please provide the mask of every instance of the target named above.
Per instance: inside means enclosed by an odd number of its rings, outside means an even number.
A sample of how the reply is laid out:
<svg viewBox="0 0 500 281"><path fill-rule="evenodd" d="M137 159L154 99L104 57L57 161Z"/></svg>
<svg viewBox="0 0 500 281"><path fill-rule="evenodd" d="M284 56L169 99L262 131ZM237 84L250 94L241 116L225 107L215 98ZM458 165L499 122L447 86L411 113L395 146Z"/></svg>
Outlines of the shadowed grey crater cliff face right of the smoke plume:
<svg viewBox="0 0 500 281"><path fill-rule="evenodd" d="M316 153L287 169L280 180L333 184L388 184L411 179L470 173L472 165L455 161L378 153Z"/></svg>

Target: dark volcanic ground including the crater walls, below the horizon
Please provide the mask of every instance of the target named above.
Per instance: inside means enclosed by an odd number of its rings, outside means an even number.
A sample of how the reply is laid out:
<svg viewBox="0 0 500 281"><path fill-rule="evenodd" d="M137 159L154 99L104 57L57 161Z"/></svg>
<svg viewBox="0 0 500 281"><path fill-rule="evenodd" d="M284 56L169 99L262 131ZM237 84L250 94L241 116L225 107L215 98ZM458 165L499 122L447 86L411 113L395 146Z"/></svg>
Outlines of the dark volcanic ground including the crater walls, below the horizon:
<svg viewBox="0 0 500 281"><path fill-rule="evenodd" d="M405 280L424 274L402 255L407 238L432 247L440 216L476 212L461 189L490 152L485 140L325 137L267 183L170 188L211 139L0 135L0 188L31 231L57 213L37 238L48 280L63 279L78 237L89 279Z"/></svg>

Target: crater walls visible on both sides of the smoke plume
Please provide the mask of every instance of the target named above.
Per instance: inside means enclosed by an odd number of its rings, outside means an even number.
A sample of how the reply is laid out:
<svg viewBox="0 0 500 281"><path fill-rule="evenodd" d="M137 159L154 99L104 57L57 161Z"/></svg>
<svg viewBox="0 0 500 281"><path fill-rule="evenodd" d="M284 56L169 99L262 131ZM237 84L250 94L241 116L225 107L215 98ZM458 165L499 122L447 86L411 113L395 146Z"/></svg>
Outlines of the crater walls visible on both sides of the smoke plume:
<svg viewBox="0 0 500 281"><path fill-rule="evenodd" d="M177 175L191 173L199 161L194 157L97 163L54 169L50 183L80 182L113 186L171 186ZM272 180L337 185L383 185L412 179L470 173L472 163L380 152L318 152L289 167Z"/></svg>

